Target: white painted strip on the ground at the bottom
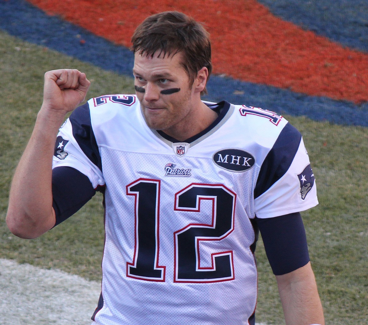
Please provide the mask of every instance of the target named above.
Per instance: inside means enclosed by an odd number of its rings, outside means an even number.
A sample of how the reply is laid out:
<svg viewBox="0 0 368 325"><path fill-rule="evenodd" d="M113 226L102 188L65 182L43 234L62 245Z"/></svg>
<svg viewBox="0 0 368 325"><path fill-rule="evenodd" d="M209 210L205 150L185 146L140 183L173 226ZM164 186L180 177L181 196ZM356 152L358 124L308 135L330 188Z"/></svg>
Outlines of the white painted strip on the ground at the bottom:
<svg viewBox="0 0 368 325"><path fill-rule="evenodd" d="M0 258L0 325L90 325L100 290L77 275Z"/></svg>

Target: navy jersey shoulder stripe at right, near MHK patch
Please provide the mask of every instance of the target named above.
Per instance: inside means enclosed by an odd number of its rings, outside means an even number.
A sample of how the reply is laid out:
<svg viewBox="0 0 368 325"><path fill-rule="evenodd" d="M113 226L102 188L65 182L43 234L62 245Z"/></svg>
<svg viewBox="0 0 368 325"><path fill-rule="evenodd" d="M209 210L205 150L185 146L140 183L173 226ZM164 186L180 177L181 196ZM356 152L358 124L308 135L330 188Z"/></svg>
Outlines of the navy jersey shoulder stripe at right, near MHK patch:
<svg viewBox="0 0 368 325"><path fill-rule="evenodd" d="M298 151L300 141L300 132L287 123L262 163L254 188L254 198L266 192L287 172Z"/></svg>

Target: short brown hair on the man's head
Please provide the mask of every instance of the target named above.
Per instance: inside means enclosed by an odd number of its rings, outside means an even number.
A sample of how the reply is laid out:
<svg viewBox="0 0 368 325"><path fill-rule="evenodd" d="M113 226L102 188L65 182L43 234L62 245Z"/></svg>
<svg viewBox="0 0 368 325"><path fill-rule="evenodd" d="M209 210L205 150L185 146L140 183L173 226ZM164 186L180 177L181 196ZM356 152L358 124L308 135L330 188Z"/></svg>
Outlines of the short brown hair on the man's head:
<svg viewBox="0 0 368 325"><path fill-rule="evenodd" d="M152 56L159 51L163 57L183 52L181 63L191 85L199 70L212 71L209 33L202 24L178 11L165 11L147 17L132 36L132 51ZM206 88L203 93L207 93Z"/></svg>

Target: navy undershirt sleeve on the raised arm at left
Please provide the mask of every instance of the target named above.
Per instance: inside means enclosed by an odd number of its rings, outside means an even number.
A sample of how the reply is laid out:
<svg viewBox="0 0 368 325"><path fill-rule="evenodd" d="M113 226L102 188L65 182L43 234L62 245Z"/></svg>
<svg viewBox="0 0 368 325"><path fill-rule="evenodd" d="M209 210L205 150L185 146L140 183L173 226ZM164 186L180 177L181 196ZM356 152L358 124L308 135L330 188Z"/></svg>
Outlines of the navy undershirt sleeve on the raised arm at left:
<svg viewBox="0 0 368 325"><path fill-rule="evenodd" d="M56 167L52 171L52 206L56 225L68 219L95 195L87 176L72 167Z"/></svg>

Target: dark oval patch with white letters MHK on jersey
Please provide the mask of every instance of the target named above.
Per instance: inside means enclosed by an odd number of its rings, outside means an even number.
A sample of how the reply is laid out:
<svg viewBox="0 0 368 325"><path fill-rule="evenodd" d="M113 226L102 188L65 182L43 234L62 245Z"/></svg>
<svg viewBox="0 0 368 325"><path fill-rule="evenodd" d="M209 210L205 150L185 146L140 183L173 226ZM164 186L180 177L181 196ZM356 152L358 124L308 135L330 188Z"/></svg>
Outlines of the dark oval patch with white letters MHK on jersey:
<svg viewBox="0 0 368 325"><path fill-rule="evenodd" d="M244 172L254 165L254 157L241 149L223 149L213 155L213 161L220 167L233 172Z"/></svg>

